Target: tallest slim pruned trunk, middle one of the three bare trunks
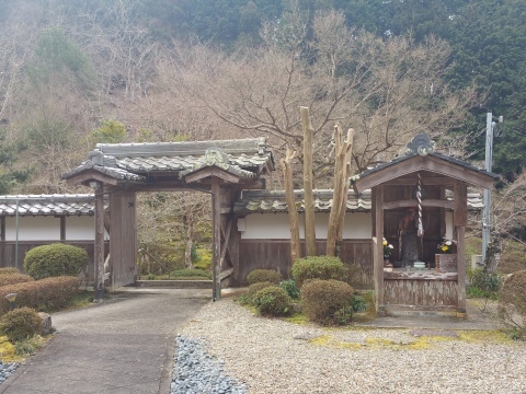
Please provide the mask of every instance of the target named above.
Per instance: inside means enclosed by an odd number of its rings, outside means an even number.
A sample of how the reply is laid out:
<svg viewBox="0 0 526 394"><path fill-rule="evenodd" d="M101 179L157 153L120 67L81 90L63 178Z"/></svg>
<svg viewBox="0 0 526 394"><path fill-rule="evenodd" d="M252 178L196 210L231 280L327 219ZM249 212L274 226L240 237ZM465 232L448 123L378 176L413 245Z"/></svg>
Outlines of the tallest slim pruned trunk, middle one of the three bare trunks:
<svg viewBox="0 0 526 394"><path fill-rule="evenodd" d="M307 256L316 256L315 198L312 196L312 135L308 107L299 107L304 126L304 198L305 198L305 248Z"/></svg>

